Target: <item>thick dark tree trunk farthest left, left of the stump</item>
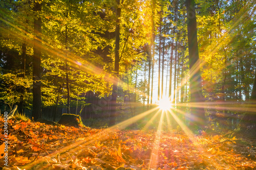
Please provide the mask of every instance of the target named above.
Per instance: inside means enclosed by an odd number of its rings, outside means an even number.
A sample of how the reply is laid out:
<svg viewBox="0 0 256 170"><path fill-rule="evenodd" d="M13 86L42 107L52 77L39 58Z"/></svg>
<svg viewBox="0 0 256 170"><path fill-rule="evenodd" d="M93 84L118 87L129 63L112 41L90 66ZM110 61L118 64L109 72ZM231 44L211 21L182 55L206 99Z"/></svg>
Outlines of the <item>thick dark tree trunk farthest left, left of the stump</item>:
<svg viewBox="0 0 256 170"><path fill-rule="evenodd" d="M33 11L41 11L41 4L35 3ZM33 46L33 109L32 117L34 120L42 117L41 112L41 32L42 32L42 21L41 17L34 19L34 39Z"/></svg>

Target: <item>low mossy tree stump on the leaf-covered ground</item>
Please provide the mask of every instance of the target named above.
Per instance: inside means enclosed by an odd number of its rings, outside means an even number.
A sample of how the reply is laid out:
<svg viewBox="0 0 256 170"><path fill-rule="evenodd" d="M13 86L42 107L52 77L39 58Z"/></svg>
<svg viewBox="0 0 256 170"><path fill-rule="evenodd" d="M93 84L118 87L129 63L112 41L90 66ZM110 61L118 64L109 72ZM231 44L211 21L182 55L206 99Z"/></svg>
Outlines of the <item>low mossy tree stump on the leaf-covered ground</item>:
<svg viewBox="0 0 256 170"><path fill-rule="evenodd" d="M82 124L81 117L79 115L75 114L62 114L59 122L59 125L64 125L64 126L74 126L74 127L83 127L84 125Z"/></svg>

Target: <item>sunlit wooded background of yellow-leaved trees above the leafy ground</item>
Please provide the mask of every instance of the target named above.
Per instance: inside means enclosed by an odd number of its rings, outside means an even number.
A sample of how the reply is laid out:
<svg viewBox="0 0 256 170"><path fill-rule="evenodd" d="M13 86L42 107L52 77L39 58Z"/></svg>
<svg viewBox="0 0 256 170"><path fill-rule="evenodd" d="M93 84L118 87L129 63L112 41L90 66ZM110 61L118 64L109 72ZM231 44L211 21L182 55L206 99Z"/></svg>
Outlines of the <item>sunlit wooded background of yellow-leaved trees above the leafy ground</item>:
<svg viewBox="0 0 256 170"><path fill-rule="evenodd" d="M114 125L167 95L183 117L202 106L208 126L255 123L256 3L188 2L0 1L1 111ZM190 90L193 18L202 99Z"/></svg>

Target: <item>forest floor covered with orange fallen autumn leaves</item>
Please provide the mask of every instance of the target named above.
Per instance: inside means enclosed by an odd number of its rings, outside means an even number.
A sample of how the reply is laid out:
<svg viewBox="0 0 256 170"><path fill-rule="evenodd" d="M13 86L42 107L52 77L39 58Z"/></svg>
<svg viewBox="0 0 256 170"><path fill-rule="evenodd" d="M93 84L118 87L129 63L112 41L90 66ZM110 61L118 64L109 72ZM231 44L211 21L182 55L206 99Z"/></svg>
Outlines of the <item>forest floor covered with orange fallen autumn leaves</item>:
<svg viewBox="0 0 256 170"><path fill-rule="evenodd" d="M0 117L0 169L256 169L256 142L225 134L91 129ZM6 164L6 165L5 165Z"/></svg>

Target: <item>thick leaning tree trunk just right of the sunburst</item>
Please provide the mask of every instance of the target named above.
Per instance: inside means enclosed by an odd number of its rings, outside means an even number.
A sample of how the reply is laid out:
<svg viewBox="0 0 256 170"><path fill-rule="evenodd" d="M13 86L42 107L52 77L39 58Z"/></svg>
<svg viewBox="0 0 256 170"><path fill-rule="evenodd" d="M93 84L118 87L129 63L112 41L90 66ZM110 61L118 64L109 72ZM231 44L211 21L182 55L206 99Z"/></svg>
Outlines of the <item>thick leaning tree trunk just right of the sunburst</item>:
<svg viewBox="0 0 256 170"><path fill-rule="evenodd" d="M195 0L186 0L187 10L187 39L189 58L190 98L192 103L204 102L202 94L202 78L197 42L197 19ZM197 126L204 127L206 124L204 108L191 108L191 114Z"/></svg>

